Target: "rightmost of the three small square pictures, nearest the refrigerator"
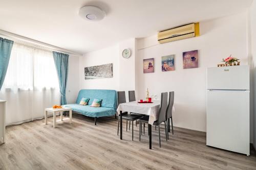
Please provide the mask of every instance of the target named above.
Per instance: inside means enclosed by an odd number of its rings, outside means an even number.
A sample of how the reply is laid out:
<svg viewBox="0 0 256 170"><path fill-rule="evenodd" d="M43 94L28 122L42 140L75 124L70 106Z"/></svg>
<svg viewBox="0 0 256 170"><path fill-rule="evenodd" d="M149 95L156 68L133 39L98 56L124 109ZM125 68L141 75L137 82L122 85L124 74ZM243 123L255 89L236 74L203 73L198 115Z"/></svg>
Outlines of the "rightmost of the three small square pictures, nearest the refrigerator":
<svg viewBox="0 0 256 170"><path fill-rule="evenodd" d="M198 50L183 52L183 68L198 67Z"/></svg>

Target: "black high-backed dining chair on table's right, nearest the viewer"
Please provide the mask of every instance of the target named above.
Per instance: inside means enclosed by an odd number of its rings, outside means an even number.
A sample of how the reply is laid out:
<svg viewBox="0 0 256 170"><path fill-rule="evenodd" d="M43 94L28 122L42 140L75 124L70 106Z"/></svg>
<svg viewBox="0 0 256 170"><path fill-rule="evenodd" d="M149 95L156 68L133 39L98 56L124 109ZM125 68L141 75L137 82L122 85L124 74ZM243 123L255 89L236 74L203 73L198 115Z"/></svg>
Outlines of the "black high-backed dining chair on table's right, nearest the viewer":
<svg viewBox="0 0 256 170"><path fill-rule="evenodd" d="M163 92L161 93L161 106L159 110L159 118L154 122L153 125L158 126L158 134L159 134L159 147L161 148L161 135L160 135L160 124L164 122L164 129L165 129L165 137L167 141L167 126L166 126L166 110L167 110L167 103L168 103L168 93ZM144 116L139 119L140 123L140 136L141 136L141 129L142 129L142 123L148 124L150 116ZM140 138L139 138L140 139Z"/></svg>

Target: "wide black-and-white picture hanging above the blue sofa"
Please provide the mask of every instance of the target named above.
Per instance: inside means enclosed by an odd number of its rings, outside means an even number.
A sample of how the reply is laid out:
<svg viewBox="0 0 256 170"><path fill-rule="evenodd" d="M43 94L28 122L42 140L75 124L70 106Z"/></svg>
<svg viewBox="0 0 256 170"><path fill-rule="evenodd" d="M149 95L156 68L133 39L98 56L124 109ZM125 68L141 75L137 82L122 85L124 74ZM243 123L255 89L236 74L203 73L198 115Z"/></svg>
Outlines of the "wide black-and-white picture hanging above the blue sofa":
<svg viewBox="0 0 256 170"><path fill-rule="evenodd" d="M113 78L113 64L84 67L84 79Z"/></svg>

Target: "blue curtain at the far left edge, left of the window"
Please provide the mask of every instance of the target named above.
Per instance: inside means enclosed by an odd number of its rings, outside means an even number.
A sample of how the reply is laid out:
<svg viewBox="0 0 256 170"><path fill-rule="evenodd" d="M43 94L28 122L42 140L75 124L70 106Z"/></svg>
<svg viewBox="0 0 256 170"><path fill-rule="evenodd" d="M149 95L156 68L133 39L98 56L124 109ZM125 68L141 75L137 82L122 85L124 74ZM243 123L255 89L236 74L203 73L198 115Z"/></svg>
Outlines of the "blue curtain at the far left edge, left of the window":
<svg viewBox="0 0 256 170"><path fill-rule="evenodd" d="M13 41L0 37L0 90L3 86L8 68Z"/></svg>

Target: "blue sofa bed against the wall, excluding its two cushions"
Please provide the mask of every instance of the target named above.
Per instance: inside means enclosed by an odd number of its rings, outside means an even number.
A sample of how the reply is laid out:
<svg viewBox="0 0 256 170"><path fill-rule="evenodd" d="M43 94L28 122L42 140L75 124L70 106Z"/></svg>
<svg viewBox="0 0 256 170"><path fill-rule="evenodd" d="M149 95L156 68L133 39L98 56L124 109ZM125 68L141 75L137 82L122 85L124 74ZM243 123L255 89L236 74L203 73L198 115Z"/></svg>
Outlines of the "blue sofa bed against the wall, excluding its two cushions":
<svg viewBox="0 0 256 170"><path fill-rule="evenodd" d="M82 98L90 98L88 105L79 105ZM101 107L90 107L94 99L102 99ZM75 104L67 104L63 107L69 107L76 113L94 117L96 125L97 117L116 115L117 92L116 90L82 89L78 93Z"/></svg>

